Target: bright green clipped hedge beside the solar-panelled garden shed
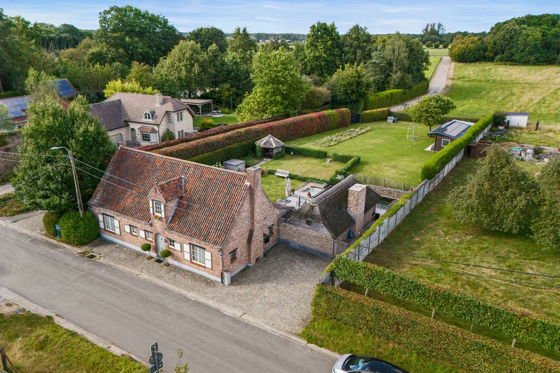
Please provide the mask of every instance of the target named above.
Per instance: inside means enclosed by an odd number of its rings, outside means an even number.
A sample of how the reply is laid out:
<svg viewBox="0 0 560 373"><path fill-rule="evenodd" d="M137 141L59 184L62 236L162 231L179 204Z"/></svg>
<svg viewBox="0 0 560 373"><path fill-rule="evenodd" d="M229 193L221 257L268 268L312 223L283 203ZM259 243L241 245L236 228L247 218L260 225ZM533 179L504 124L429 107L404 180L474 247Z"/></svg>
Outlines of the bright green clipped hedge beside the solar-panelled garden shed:
<svg viewBox="0 0 560 373"><path fill-rule="evenodd" d="M445 148L437 152L436 155L428 159L428 161L424 163L424 166L422 166L422 180L434 178L455 155L459 154L466 145L474 141L477 136L492 123L493 119L494 116L492 114L482 117L478 122L470 126L463 136L452 141Z"/></svg>

